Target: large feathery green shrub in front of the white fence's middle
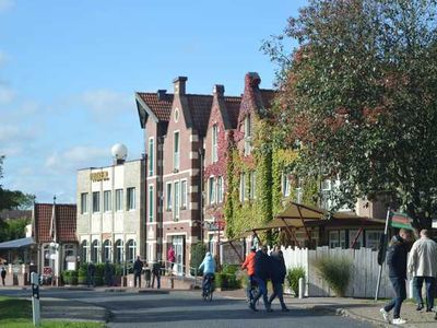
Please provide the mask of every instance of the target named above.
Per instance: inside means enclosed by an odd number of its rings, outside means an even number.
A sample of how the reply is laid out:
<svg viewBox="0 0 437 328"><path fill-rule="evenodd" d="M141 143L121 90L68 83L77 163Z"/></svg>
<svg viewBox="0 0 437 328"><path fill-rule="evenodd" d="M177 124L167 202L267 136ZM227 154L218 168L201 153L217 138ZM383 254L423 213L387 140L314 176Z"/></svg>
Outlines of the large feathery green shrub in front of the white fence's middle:
<svg viewBox="0 0 437 328"><path fill-rule="evenodd" d="M351 279L352 262L344 257L324 256L318 258L315 266L319 277L328 282L335 295L343 297Z"/></svg>

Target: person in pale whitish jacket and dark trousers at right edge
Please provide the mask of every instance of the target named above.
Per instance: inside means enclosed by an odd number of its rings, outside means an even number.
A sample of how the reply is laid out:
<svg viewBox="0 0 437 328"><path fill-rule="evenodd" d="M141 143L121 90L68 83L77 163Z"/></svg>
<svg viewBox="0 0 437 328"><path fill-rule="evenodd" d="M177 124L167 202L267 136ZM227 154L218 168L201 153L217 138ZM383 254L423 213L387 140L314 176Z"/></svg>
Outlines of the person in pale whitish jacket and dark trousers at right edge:
<svg viewBox="0 0 437 328"><path fill-rule="evenodd" d="M437 243L429 237L429 231L422 230L410 251L409 272L414 277L414 297L417 301L417 311L424 308L422 286L426 284L426 312L432 312L437 279Z"/></svg>

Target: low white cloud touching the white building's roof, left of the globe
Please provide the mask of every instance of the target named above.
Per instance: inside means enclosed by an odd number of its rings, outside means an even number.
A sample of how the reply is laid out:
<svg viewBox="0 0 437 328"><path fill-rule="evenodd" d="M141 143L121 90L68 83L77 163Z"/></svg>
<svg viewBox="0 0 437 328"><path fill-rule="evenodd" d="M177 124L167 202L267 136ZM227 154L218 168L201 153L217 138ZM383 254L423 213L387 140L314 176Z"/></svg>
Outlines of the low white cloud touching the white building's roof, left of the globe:
<svg viewBox="0 0 437 328"><path fill-rule="evenodd" d="M52 152L46 159L45 166L58 173L71 173L98 163L110 163L109 149L78 145L62 152Z"/></svg>

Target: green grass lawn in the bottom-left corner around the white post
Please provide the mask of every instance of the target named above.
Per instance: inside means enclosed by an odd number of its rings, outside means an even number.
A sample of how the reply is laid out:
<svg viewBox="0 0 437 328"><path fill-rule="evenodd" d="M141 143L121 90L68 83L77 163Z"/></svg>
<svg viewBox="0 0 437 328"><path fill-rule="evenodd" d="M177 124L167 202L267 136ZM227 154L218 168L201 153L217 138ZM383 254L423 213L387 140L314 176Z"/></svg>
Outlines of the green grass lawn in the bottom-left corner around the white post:
<svg viewBox="0 0 437 328"><path fill-rule="evenodd" d="M0 296L0 327L8 328L31 328L32 321L32 302L21 298ZM102 328L102 323L78 323L78 321L58 321L42 320L43 328Z"/></svg>

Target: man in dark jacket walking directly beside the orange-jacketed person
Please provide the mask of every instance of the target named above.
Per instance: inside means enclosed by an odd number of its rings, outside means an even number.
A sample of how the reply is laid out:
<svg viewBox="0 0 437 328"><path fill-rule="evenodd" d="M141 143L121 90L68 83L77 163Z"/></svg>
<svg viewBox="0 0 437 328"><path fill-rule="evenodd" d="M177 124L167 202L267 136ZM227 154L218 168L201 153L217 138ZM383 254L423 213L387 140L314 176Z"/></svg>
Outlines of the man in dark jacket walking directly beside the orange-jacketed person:
<svg viewBox="0 0 437 328"><path fill-rule="evenodd" d="M255 255L255 274L253 281L258 284L259 292L257 295L253 295L253 300L249 303L249 307L257 312L256 304L258 300L262 296L264 302L265 311L272 312L269 298L267 296L267 281L270 278L270 258L267 254L267 246L262 246L260 250Z"/></svg>

